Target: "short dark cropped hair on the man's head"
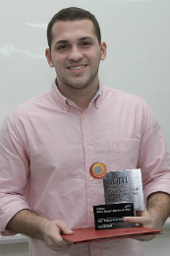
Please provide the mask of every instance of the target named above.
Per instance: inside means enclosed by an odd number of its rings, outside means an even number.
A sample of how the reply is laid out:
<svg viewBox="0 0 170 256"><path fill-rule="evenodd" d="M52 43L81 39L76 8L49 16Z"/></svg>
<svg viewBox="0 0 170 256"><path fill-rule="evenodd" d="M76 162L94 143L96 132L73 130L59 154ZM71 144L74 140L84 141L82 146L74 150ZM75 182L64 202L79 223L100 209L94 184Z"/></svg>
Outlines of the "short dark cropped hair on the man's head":
<svg viewBox="0 0 170 256"><path fill-rule="evenodd" d="M100 44L101 43L101 32L100 32L99 24L98 24L96 18L94 17L94 15L92 15L88 11L85 11L82 8L69 7L69 8L62 9L57 14L55 14L48 24L47 41L48 41L49 48L51 49L52 27L56 22L58 22L58 21L73 22L73 21L81 21L81 20L89 20L92 22L93 27L94 27L94 33L97 36L98 43Z"/></svg>

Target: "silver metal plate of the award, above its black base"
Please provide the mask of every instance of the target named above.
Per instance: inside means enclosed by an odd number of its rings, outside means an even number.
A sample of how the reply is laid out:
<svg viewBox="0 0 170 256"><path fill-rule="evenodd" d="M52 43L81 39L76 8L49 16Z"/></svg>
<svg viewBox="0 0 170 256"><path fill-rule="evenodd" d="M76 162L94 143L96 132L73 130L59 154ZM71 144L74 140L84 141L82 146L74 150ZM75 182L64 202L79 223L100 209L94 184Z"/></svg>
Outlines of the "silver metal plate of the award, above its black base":
<svg viewBox="0 0 170 256"><path fill-rule="evenodd" d="M144 210L141 169L108 171L103 178L105 204L134 203L135 210Z"/></svg>

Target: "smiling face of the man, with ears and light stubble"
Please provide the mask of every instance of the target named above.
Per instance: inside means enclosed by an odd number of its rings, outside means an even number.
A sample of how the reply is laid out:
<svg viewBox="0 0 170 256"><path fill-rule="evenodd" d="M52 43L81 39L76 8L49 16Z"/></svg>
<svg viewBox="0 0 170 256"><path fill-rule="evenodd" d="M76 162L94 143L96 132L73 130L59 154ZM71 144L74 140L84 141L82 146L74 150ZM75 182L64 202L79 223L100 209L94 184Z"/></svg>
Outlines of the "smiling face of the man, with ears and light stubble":
<svg viewBox="0 0 170 256"><path fill-rule="evenodd" d="M57 22L52 28L51 52L46 49L50 67L57 73L59 89L83 89L98 84L98 67L105 59L106 44L99 45L88 20Z"/></svg>

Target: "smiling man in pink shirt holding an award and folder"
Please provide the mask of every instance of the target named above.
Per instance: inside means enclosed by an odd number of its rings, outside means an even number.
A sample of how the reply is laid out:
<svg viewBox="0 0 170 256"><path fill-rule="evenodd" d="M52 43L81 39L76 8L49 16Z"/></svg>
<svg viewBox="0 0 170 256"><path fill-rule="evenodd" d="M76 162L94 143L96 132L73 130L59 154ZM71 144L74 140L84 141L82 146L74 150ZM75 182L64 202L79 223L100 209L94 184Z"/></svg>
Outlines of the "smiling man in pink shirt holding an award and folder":
<svg viewBox="0 0 170 256"><path fill-rule="evenodd" d="M102 180L89 174L96 161L108 170L141 167L146 211L124 221L162 227L170 215L162 130L142 98L102 86L106 43L93 15L61 10L47 37L57 73L51 91L17 107L1 130L0 230L30 236L31 256L142 256L135 239L72 245L61 233L94 225L92 207L104 204Z"/></svg>

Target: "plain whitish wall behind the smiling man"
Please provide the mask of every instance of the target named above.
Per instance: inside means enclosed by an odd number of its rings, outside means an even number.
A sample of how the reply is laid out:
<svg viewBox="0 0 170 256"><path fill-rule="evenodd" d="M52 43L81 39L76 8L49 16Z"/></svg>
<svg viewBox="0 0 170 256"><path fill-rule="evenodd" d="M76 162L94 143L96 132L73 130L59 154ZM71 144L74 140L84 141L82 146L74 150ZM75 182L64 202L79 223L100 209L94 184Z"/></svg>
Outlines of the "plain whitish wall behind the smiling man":
<svg viewBox="0 0 170 256"><path fill-rule="evenodd" d="M142 96L170 150L169 0L0 0L0 126L15 106L50 90L55 71L44 55L46 26L70 6L90 11L100 24L108 46L99 72L104 86ZM147 255L169 255L169 236L166 230L147 243ZM27 246L1 245L0 255L28 255Z"/></svg>

